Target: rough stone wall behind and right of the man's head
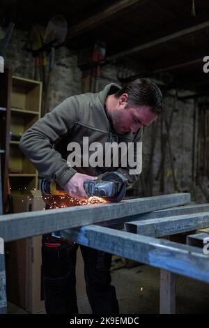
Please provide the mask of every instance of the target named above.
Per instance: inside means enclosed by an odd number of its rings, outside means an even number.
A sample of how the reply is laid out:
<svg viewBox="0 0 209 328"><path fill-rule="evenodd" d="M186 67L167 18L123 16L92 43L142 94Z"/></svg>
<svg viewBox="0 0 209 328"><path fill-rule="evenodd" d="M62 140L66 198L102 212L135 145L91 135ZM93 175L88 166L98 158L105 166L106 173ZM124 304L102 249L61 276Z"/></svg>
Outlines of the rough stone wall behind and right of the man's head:
<svg viewBox="0 0 209 328"><path fill-rule="evenodd" d="M109 82L121 84L123 77L134 75L134 69L121 66L103 66L98 81L98 89L102 89ZM178 90L178 96L187 96L188 91ZM209 185L208 179L201 177L196 184L196 158L197 158L197 133L196 124L195 142L194 133L194 110L198 110L193 99L177 100L176 90L164 94L164 117L169 122L171 113L173 119L170 127L170 148L165 140L164 169L160 170L162 158L162 133L165 133L165 125L162 127L162 119L158 118L154 124L144 128L143 137L143 170L139 181L134 186L135 195L159 195L160 193L190 192L192 200L199 203L208 202ZM194 150L193 150L194 148ZM153 151L152 151L153 149ZM194 151L194 169L192 165ZM171 165L171 158L173 165ZM172 168L173 167L173 168ZM160 174L159 174L160 170ZM194 177L192 179L192 170ZM164 181L162 181L162 174ZM176 184L173 182L173 174ZM157 177L158 176L158 177Z"/></svg>

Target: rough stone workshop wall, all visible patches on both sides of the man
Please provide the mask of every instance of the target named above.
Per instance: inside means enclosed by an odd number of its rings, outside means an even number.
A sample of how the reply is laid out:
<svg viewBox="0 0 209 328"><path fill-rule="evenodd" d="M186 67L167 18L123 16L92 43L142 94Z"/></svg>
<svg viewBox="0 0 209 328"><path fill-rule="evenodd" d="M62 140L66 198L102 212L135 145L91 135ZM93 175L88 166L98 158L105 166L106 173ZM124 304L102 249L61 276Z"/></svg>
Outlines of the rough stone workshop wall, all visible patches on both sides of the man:
<svg viewBox="0 0 209 328"><path fill-rule="evenodd" d="M26 50L27 31L15 29L8 47L6 64L13 68L13 75L34 78L34 58ZM126 71L125 71L126 70ZM102 66L98 78L98 90L110 82L121 84L124 74L134 75L134 69L127 72L120 66ZM52 109L69 96L82 93L82 71L77 67L77 52L61 47L56 50L55 66L52 73L52 83L49 94L49 108ZM173 121L170 129L170 145L172 156L167 147L164 162L164 183L156 179L161 161L161 119L144 129L143 140L143 174L137 182L134 195L157 195L176 191L191 192L192 199L199 203L207 202L209 194L208 179L201 179L199 186L192 181L192 149L194 126L194 100L180 101L175 98L176 91L164 97L165 115L169 121L173 110ZM184 91L178 91L184 95ZM164 128L163 128L164 129ZM153 149L154 147L154 149ZM153 156L152 156L153 149ZM195 147L196 149L196 147ZM173 168L177 188L173 184ZM196 158L196 152L194 157ZM162 174L162 172L161 172ZM132 194L131 192L130 194Z"/></svg>

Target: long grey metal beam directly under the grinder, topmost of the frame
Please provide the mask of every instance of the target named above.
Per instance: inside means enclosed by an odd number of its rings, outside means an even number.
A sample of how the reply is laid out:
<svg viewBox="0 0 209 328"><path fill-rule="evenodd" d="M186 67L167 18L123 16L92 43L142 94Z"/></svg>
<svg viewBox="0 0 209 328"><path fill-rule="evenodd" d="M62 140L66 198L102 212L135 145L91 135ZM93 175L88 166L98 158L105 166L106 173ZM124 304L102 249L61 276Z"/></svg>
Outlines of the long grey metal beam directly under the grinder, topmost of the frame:
<svg viewBox="0 0 209 328"><path fill-rule="evenodd" d="M189 200L189 193L174 193L123 200L120 203L8 214L0 216L0 237L3 237L4 241L22 239L38 234L169 208L186 204Z"/></svg>

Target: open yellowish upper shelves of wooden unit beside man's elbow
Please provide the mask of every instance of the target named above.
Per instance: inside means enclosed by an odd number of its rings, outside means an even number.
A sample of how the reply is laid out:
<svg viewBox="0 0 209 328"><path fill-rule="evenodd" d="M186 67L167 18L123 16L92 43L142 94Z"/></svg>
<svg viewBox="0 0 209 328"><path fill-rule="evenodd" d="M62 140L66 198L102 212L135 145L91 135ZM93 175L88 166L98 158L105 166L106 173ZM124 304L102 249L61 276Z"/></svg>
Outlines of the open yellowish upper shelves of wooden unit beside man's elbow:
<svg viewBox="0 0 209 328"><path fill-rule="evenodd" d="M42 82L12 77L9 179L11 195L38 188L38 172L19 148L20 137L41 113Z"/></svg>

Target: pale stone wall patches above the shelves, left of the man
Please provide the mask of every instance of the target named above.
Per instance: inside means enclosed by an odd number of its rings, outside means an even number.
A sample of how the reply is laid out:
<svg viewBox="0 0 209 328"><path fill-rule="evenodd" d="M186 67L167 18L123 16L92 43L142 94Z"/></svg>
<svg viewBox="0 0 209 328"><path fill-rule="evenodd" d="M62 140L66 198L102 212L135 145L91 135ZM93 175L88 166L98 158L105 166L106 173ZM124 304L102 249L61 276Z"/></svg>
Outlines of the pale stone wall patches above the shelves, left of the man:
<svg viewBox="0 0 209 328"><path fill-rule="evenodd" d="M26 50L28 32L15 29L6 54L6 65L13 68L13 75L34 78L34 57ZM82 72L77 68L77 53L67 47L56 50L52 82L49 92L49 109L62 100L82 92Z"/></svg>

